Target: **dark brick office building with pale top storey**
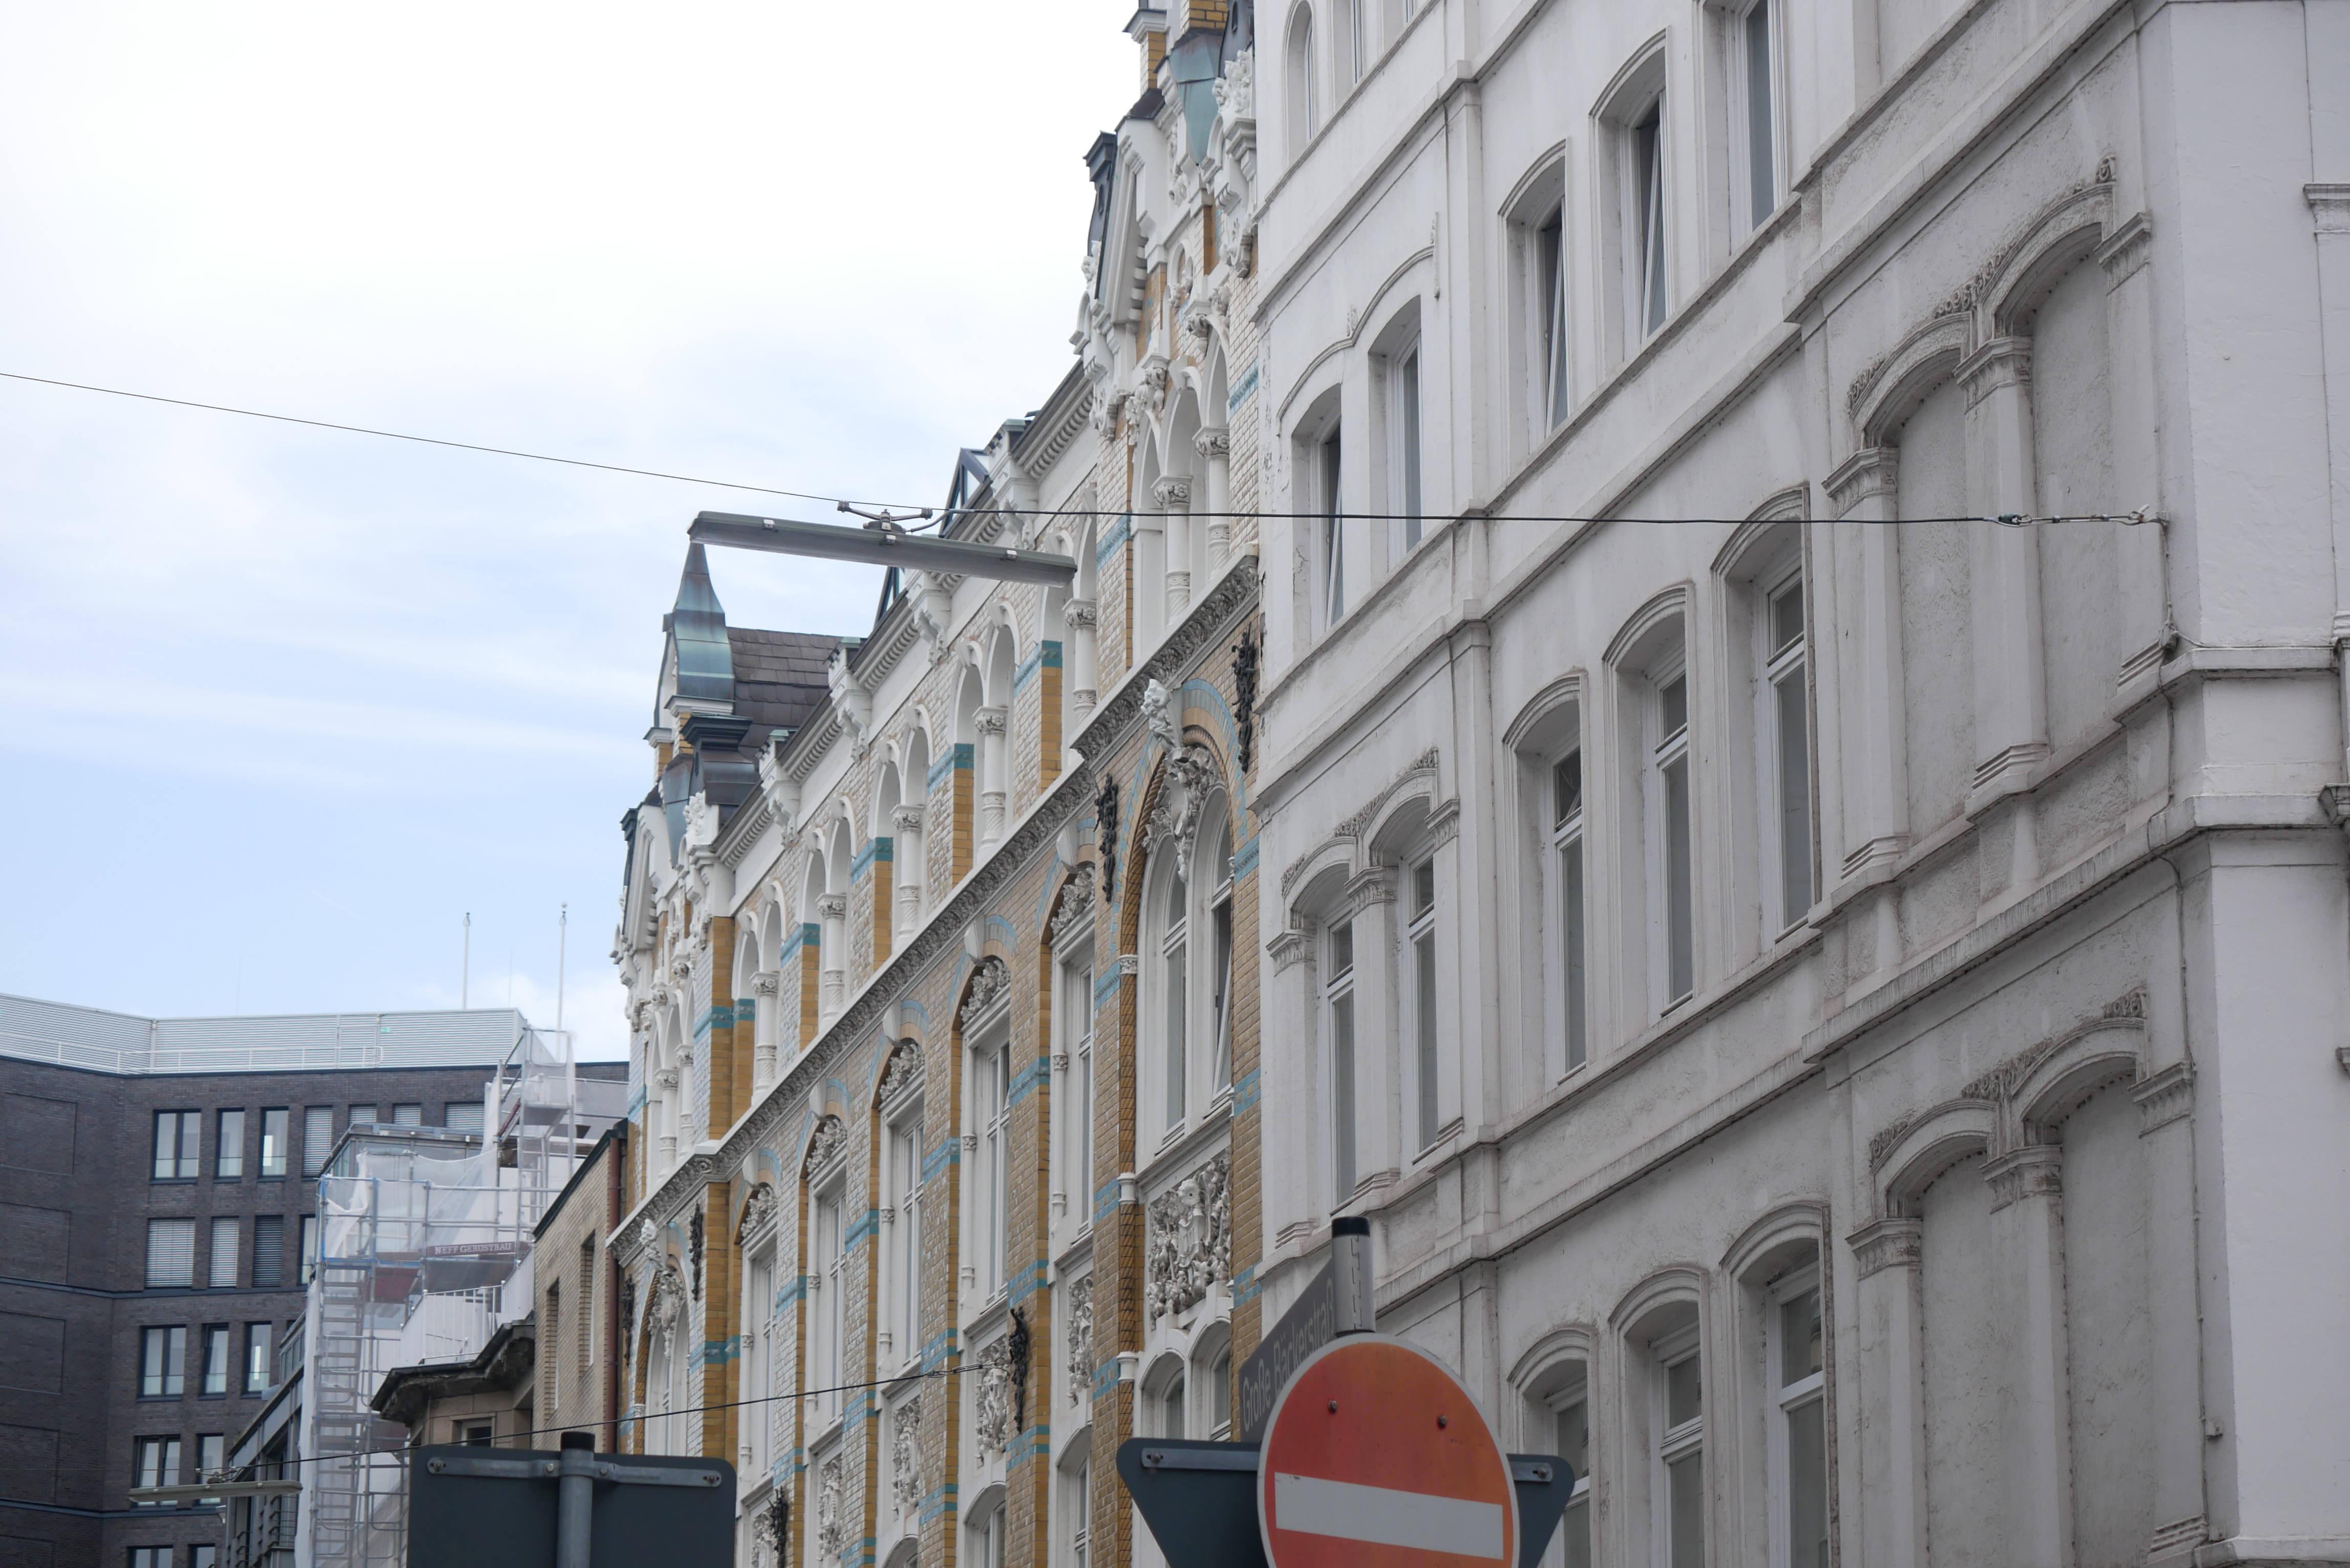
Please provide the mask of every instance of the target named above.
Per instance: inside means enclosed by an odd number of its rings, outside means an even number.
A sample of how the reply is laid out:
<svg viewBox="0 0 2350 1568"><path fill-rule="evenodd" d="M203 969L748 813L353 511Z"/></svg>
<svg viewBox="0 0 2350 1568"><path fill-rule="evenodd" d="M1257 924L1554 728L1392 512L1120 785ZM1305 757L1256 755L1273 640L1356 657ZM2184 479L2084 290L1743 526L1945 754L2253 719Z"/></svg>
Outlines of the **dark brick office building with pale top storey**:
<svg viewBox="0 0 2350 1568"><path fill-rule="evenodd" d="M209 1568L193 1483L303 1314L352 1121L479 1128L512 1011L148 1020L0 997L0 1568Z"/></svg>

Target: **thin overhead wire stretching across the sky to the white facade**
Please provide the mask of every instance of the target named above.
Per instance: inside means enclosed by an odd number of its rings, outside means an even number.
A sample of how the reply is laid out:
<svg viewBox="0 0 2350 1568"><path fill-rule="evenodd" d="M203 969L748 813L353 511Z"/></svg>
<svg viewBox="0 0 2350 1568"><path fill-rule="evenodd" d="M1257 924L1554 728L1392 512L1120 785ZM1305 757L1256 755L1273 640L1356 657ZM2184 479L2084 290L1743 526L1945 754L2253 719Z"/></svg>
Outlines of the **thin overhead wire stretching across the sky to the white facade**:
<svg viewBox="0 0 2350 1568"><path fill-rule="evenodd" d="M590 461L590 458L564 458L564 456L552 456L552 454L545 454L545 451L522 451L517 447L489 447L489 444L482 444L482 442L454 442L454 440L444 440L444 437L437 437L437 435L409 435L404 430L376 430L371 425L345 425L345 423L336 423L331 418L306 418L306 416L298 416L298 414L270 414L266 409L237 409L237 407L230 407L230 404L223 404L223 402L195 402L193 397L164 397L160 393L132 393L132 390L118 388L118 386L92 386L87 381L59 381L54 376L28 376L24 371L0 371L0 378L5 378L5 381L26 381L26 383L33 383L33 386L59 386L59 388L70 388L75 393L103 393L108 397L134 397L139 402L162 402L162 404L172 404L172 407L179 407L179 409L202 409L207 414L237 414L237 416L244 416L244 418L268 418L268 421L284 423L284 425L310 425L315 430L341 430L345 435L374 435L374 437L381 437L381 440L388 440L388 442L416 442L421 447L449 447L454 451L482 451L482 454L501 456L501 458L524 458L529 463L562 463L566 468L597 468L602 473L625 473L625 475L634 475L639 480L674 480L679 484L710 484L714 489L740 489L740 491L752 491L752 494L759 494L759 496L785 496L790 501L825 501L825 503L832 503L834 508L839 508L844 512L851 512L855 508L872 508L872 510L884 510L884 512L912 512L916 517L924 517L924 522L912 522L912 517L902 520L900 527L905 527L907 534L926 534L931 529L945 529L949 522L954 522L959 517L1039 517L1041 515L1041 517L1050 517L1050 520L1090 520L1090 522L1102 522L1102 520L1112 520L1112 517L1128 517L1128 515L1133 515L1128 510L1102 510L1102 508L1086 508L1086 510L1060 508L1060 510L1053 510L1053 512L1020 512L1020 510L1013 510L1013 508L928 508L928 505L909 505L909 503L895 503L895 501L891 501L891 503L884 503L884 501L848 501L848 498L841 498L841 496L822 496L822 494L806 491L806 489L783 489L783 487L776 487L776 484L745 484L740 480L710 480L710 477L703 477L703 475L665 473L660 468L630 468L625 463L597 463L597 461ZM1255 510L1255 512L1236 512L1236 510L1215 512L1215 510L1203 510L1203 508L1187 508L1182 515L1184 517L1231 517L1231 520L1255 520L1255 522L1426 522L1426 524L1452 522L1450 517L1434 517L1434 515L1431 517L1405 517L1403 512L1264 512L1264 510ZM1462 512L1462 517L1466 517L1466 515L1469 512ZM1476 515L1483 517L1485 522L1544 522L1544 524L1622 522L1622 524L1638 524L1638 527L1730 527L1730 529L1734 529L1734 527L1739 527L1744 522L1753 522L1751 517L1626 517L1626 515L1570 517L1570 515L1539 515L1539 512L1476 512ZM2127 524L2127 527L2136 527L2136 524L2162 522L2162 520L2150 508L2138 508L2134 512L2068 512L2068 515L2035 515L2035 517L2026 517L2026 515L2019 515L2019 512L2002 512L2002 515L1969 512L1969 515L1960 515L1960 517L1784 517L1784 520L1777 520L1777 522L1793 522L1793 524L1849 522L1849 524L1859 524L1859 527L1920 527L1920 524L1946 524L1946 522L1993 522L1993 524L2021 529L2021 527L2047 527L2047 524L2061 524L2061 522L2120 522L2120 524Z"/></svg>

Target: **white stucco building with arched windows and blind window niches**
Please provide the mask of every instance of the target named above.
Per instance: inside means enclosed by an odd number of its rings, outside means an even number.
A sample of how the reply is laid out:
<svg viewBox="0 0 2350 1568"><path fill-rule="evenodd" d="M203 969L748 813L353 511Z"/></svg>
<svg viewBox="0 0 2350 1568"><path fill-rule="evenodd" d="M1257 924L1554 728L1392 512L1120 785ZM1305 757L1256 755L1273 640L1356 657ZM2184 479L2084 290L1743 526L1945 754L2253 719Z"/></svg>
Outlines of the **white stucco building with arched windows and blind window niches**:
<svg viewBox="0 0 2350 1568"><path fill-rule="evenodd" d="M1262 1321L1567 1563L2350 1561L2350 7L1257 59Z"/></svg>

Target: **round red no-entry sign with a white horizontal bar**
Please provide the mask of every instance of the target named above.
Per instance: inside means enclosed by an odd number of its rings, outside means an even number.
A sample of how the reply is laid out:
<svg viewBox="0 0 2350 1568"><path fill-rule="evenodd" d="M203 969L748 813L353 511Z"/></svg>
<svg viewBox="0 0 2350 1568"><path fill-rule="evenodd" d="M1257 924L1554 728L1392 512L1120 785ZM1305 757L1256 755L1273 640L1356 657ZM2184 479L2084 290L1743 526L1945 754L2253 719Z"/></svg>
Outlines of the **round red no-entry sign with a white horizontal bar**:
<svg viewBox="0 0 2350 1568"><path fill-rule="evenodd" d="M1257 1528L1271 1568L1511 1568L1518 1493L1443 1361L1356 1333L1307 1356L1281 1392Z"/></svg>

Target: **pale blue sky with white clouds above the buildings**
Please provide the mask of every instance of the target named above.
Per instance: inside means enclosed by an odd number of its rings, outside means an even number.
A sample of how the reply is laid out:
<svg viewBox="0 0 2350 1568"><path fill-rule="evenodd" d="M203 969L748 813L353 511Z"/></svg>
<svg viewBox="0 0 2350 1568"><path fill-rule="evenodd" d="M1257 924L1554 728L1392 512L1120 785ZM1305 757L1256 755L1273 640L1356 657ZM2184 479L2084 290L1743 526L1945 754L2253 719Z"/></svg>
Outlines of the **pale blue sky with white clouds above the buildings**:
<svg viewBox="0 0 2350 1568"><path fill-rule="evenodd" d="M0 0L0 371L935 505L1072 364L1128 12ZM700 508L834 515L0 378L0 992L550 1025L569 905L625 1056ZM879 592L712 574L736 625Z"/></svg>

